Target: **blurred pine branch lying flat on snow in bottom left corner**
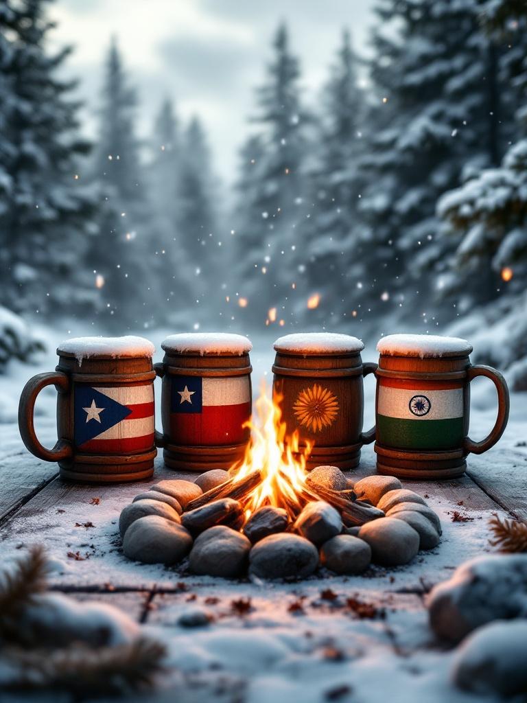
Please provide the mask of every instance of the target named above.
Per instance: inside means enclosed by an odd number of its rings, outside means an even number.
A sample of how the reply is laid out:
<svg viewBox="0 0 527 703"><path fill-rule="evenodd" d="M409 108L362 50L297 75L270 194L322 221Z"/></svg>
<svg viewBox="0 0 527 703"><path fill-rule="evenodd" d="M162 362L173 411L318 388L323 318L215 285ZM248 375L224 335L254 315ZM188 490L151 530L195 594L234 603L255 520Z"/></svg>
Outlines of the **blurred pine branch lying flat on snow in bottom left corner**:
<svg viewBox="0 0 527 703"><path fill-rule="evenodd" d="M96 650L74 644L51 651L10 647L4 654L20 672L10 683L12 690L52 689L93 697L153 688L167 652L162 643L140 638Z"/></svg>

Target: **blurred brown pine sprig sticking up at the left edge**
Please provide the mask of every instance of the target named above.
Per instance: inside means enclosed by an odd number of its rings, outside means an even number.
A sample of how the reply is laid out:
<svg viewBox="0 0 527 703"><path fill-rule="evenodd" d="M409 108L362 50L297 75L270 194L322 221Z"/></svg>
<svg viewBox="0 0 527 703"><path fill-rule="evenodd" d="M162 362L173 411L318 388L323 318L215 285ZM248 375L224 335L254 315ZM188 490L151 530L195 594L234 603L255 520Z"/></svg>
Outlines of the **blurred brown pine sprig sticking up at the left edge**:
<svg viewBox="0 0 527 703"><path fill-rule="evenodd" d="M48 573L44 548L34 545L18 559L13 572L0 576L0 630L1 621L15 617L35 595L46 590Z"/></svg>

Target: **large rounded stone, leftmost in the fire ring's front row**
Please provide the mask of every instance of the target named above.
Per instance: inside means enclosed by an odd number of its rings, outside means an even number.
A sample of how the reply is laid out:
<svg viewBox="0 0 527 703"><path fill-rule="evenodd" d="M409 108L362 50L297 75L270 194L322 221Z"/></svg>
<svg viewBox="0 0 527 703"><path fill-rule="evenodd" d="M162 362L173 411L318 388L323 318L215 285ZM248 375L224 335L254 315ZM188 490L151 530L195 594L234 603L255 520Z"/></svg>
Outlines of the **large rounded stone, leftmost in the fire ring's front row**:
<svg viewBox="0 0 527 703"><path fill-rule="evenodd" d="M126 530L123 540L124 555L143 564L177 564L191 547L188 531L159 515L140 517Z"/></svg>

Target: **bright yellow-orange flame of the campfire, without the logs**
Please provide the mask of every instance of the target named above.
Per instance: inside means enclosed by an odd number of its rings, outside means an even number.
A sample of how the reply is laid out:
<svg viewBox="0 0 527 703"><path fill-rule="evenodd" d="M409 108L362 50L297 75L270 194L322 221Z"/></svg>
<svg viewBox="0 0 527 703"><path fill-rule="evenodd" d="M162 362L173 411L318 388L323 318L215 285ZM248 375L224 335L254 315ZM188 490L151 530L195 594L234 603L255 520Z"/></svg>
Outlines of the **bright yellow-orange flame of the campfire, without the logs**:
<svg viewBox="0 0 527 703"><path fill-rule="evenodd" d="M274 394L273 399L266 392L263 382L254 415L256 420L245 423L252 434L245 458L234 476L238 482L254 470L260 470L261 482L245 499L246 518L262 505L285 508L289 515L298 512L306 502L301 503L301 494L306 482L306 460L313 448L312 444L299 446L299 434L286 434L282 422L280 401L282 396Z"/></svg>

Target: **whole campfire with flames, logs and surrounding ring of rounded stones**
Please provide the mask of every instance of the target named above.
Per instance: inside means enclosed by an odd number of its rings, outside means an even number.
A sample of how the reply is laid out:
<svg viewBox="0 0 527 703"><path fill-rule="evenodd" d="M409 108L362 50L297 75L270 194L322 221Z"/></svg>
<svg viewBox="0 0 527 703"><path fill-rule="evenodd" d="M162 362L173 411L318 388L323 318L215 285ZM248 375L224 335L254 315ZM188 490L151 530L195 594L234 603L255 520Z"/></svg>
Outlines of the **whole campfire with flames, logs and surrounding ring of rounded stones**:
<svg viewBox="0 0 527 703"><path fill-rule="evenodd" d="M166 479L122 510L126 557L175 565L188 555L193 574L299 579L319 566L357 575L371 562L403 565L421 543L437 545L438 516L396 477L351 488L337 467L308 471L313 447L288 434L280 401L262 388L243 460L203 475L214 475L214 487L202 493L197 482Z"/></svg>

